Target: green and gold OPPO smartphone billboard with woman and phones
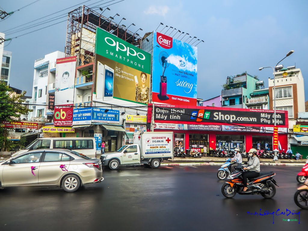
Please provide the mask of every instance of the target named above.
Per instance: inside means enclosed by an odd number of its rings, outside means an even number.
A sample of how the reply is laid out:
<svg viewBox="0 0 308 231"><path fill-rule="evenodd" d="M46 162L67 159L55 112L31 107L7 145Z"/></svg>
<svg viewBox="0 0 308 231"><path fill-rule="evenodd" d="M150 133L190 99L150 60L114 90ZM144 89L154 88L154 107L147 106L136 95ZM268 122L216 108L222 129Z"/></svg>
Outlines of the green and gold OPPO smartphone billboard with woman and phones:
<svg viewBox="0 0 308 231"><path fill-rule="evenodd" d="M150 102L149 53L97 28L95 55L94 95L97 100Z"/></svg>

